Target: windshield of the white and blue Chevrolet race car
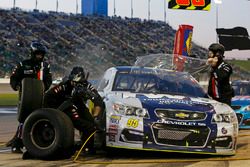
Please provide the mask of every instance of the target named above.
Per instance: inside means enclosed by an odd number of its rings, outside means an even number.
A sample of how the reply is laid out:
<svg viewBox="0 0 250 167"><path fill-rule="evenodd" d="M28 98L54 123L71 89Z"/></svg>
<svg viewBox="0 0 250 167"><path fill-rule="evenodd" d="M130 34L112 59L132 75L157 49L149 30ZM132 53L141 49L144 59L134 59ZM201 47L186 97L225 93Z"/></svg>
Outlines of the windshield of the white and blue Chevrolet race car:
<svg viewBox="0 0 250 167"><path fill-rule="evenodd" d="M188 73L146 68L118 71L112 90L205 97L203 89Z"/></svg>

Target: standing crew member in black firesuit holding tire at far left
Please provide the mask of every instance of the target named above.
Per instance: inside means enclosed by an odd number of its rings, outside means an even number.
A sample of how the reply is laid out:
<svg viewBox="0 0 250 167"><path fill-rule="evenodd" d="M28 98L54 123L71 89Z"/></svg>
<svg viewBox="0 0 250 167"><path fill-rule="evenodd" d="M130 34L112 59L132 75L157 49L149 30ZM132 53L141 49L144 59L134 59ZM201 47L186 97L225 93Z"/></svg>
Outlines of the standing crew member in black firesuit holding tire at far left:
<svg viewBox="0 0 250 167"><path fill-rule="evenodd" d="M26 59L16 65L10 77L10 85L15 91L19 91L21 97L21 82L24 78L37 78L43 80L45 90L49 89L52 83L52 75L50 73L50 65L44 61L47 48L40 42L35 41L30 44L30 59ZM12 152L22 153L22 126L23 122L19 122L15 136L6 144L12 147Z"/></svg>

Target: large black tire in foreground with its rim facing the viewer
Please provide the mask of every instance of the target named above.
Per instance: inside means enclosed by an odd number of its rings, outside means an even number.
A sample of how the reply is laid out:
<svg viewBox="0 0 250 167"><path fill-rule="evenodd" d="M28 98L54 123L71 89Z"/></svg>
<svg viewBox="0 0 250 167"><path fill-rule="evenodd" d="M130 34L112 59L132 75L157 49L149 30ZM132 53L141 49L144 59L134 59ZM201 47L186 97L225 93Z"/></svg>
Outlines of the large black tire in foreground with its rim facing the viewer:
<svg viewBox="0 0 250 167"><path fill-rule="evenodd" d="M24 122L23 143L35 158L69 158L74 146L73 123L60 110L37 109Z"/></svg>

